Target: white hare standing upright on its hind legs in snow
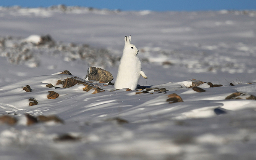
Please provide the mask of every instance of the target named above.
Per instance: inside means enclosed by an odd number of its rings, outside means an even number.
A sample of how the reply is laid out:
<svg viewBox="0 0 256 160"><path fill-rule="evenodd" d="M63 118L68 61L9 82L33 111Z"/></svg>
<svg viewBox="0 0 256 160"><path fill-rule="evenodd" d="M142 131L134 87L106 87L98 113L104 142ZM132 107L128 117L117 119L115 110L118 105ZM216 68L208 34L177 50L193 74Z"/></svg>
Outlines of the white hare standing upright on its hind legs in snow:
<svg viewBox="0 0 256 160"><path fill-rule="evenodd" d="M123 56L120 60L117 79L115 80L115 88L129 88L135 90L140 75L147 79L147 76L141 70L141 61L137 54L139 50L131 44L131 36L125 36L125 47L123 48Z"/></svg>

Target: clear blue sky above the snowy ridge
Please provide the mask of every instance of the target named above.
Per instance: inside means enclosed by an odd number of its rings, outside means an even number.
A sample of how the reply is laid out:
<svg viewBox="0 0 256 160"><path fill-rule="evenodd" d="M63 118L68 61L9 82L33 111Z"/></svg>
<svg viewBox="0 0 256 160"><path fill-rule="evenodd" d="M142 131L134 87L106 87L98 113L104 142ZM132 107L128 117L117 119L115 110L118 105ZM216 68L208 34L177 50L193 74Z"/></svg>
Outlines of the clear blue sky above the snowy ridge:
<svg viewBox="0 0 256 160"><path fill-rule="evenodd" d="M88 6L110 10L200 11L256 10L256 0L3 0L0 6Z"/></svg>

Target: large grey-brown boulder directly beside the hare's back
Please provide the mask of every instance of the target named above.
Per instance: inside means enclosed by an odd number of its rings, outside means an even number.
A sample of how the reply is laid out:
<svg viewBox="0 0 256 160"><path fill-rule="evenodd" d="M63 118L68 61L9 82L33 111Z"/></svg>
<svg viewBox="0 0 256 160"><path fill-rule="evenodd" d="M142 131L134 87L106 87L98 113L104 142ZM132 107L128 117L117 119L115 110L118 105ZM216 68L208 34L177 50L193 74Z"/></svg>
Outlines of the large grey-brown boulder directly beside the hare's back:
<svg viewBox="0 0 256 160"><path fill-rule="evenodd" d="M102 83L108 83L114 79L109 71L96 67L89 67L86 78L87 77L88 80L99 81Z"/></svg>

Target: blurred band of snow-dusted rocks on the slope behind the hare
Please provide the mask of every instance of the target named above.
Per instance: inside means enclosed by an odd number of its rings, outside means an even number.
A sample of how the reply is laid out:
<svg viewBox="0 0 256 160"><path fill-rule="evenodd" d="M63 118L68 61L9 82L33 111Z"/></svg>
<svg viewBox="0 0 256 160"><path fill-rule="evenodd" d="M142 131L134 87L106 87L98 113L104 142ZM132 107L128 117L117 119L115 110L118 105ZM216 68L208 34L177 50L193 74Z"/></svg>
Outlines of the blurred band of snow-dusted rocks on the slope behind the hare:
<svg viewBox="0 0 256 160"><path fill-rule="evenodd" d="M115 66L120 59L103 48L55 42L50 35L31 35L28 38L0 37L0 56L7 58L11 64L38 67L41 54L59 56L65 61L86 61L89 66L102 67Z"/></svg>

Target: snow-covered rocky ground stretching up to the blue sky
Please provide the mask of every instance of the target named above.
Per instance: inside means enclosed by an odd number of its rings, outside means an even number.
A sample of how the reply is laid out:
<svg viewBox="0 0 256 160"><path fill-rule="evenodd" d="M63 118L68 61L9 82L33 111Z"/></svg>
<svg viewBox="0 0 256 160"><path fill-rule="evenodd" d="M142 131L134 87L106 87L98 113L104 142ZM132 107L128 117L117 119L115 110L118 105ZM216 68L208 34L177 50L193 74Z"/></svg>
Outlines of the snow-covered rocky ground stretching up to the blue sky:
<svg viewBox="0 0 256 160"><path fill-rule="evenodd" d="M255 11L0 7L0 117L17 120L0 125L0 159L254 160L255 25ZM93 81L105 91L92 94L56 84L87 83L89 66L110 71L114 83L125 35L139 49L146 89ZM54 74L62 70L72 75ZM206 82L204 92L191 88L193 78ZM183 102L170 103L173 93ZM39 115L63 123L27 125Z"/></svg>

